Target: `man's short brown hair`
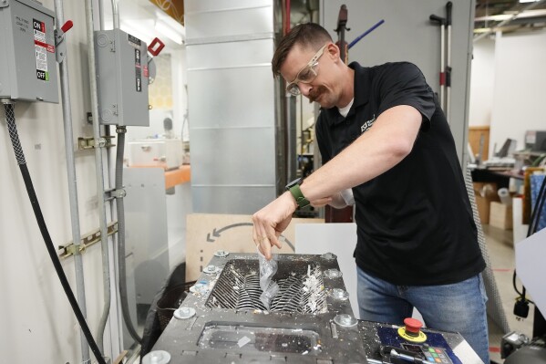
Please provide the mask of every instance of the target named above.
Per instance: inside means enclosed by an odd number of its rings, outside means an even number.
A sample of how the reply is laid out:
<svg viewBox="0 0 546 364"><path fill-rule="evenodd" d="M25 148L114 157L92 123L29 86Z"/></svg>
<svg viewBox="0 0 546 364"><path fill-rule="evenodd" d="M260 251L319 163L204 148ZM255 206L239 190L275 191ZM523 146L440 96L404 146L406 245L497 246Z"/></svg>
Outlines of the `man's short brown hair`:
<svg viewBox="0 0 546 364"><path fill-rule="evenodd" d="M283 66L284 60L295 45L318 50L327 42L332 42L332 36L328 34L324 27L319 26L316 23L305 23L294 26L294 28L281 39L279 45L275 49L271 61L273 77L280 74L280 69Z"/></svg>

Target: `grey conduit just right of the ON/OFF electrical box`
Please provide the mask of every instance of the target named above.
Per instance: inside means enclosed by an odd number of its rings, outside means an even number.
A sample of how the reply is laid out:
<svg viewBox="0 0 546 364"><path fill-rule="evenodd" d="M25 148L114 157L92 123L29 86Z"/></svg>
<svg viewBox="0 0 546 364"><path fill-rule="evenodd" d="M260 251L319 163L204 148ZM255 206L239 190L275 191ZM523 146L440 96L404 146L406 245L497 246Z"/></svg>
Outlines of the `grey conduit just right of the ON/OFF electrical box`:
<svg viewBox="0 0 546 364"><path fill-rule="evenodd" d="M63 0L55 0L55 17L57 32L65 23ZM65 39L66 42L66 39ZM65 127L65 151L67 154L68 200L70 203L70 222L72 224L72 243L76 250L74 254L74 266L76 272L77 305L83 317L87 318L86 289L84 285L83 260L78 254L80 245L79 212L77 203L76 164L74 162L74 133L72 130L72 109L70 104L70 86L68 78L67 52L59 63L59 77L61 83L61 99L63 104L63 124ZM81 347L81 360L84 364L91 362L89 345L83 329L79 330ZM102 350L101 350L102 351Z"/></svg>

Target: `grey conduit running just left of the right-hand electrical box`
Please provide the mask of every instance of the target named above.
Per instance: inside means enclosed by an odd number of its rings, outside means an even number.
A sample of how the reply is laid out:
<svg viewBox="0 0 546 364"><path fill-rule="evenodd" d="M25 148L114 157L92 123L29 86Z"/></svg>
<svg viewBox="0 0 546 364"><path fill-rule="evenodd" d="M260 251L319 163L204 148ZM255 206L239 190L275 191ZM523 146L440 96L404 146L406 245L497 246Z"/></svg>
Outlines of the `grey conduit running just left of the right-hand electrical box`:
<svg viewBox="0 0 546 364"><path fill-rule="evenodd" d="M98 324L97 342L98 347L103 350L103 338L110 310L110 272L108 257L108 226L106 221L105 188L104 188L104 167L102 161L102 148L106 141L100 137L100 124L98 114L97 95L97 69L95 67L95 34L93 27L93 5L92 0L86 0L86 26L88 30L88 67L89 67L89 88L91 90L91 111L93 115L93 138L95 139L95 175L97 178L98 215L100 223L100 244L102 250L102 276L104 290L104 306L102 317Z"/></svg>

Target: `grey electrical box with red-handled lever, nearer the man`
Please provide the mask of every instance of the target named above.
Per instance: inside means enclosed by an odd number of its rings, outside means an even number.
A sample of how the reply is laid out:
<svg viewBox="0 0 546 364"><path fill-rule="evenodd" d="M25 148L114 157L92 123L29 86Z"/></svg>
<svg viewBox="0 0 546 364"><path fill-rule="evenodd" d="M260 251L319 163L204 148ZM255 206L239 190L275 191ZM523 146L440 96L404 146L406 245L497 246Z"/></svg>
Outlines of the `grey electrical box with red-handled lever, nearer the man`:
<svg viewBox="0 0 546 364"><path fill-rule="evenodd" d="M149 126L146 43L119 29L98 31L95 52L100 122Z"/></svg>

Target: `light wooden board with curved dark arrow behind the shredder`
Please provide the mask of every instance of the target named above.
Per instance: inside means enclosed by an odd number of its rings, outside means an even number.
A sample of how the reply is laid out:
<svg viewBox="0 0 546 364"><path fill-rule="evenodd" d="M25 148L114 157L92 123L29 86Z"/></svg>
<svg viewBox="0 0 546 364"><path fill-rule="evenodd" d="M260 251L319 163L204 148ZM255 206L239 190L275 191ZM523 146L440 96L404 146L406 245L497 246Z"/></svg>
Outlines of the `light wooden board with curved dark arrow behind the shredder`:
<svg viewBox="0 0 546 364"><path fill-rule="evenodd" d="M324 224L324 219L294 218L283 232L282 249L273 253L294 254L295 224ZM186 281L196 280L217 250L230 253L256 253L252 241L252 216L238 214L193 213L187 216Z"/></svg>

